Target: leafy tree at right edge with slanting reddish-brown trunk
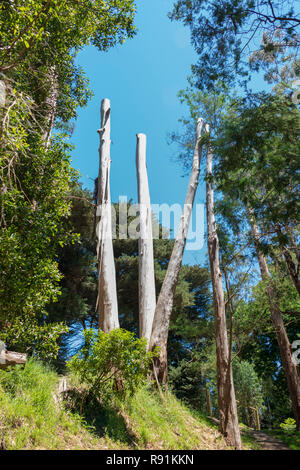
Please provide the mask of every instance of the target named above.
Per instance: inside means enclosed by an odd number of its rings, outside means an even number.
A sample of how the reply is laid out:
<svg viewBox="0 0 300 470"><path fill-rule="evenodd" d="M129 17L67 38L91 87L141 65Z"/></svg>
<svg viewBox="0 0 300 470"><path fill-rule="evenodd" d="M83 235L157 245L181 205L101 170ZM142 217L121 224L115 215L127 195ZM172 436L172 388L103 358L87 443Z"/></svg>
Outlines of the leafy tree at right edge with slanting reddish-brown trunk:
<svg viewBox="0 0 300 470"><path fill-rule="evenodd" d="M285 371L293 411L299 428L300 379L292 359L290 339L284 324L274 279L268 260L278 251L287 261L291 280L295 281L290 263L297 262L297 243L289 247L287 259L278 228L289 235L297 233L296 202L299 179L297 172L300 114L290 99L259 95L252 103L235 104L236 115L225 121L216 141L219 154L217 175L224 194L235 200L248 218L261 277L268 298L270 319L274 326ZM292 255L293 253L293 255ZM285 255L285 256L284 256Z"/></svg>

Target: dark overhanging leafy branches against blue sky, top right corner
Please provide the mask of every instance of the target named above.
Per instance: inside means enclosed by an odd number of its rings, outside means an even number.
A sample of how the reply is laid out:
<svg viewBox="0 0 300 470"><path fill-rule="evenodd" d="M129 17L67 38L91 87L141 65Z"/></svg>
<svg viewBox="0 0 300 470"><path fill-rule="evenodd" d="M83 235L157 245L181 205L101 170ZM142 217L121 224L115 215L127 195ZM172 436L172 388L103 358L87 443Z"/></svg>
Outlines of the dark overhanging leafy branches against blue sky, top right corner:
<svg viewBox="0 0 300 470"><path fill-rule="evenodd" d="M268 65L283 50L296 54L299 46L299 18L289 0L176 0L169 17L190 29L198 54L193 72L201 90L212 90L218 79L246 81L247 54L262 36L259 57ZM260 61L251 65L257 70Z"/></svg>

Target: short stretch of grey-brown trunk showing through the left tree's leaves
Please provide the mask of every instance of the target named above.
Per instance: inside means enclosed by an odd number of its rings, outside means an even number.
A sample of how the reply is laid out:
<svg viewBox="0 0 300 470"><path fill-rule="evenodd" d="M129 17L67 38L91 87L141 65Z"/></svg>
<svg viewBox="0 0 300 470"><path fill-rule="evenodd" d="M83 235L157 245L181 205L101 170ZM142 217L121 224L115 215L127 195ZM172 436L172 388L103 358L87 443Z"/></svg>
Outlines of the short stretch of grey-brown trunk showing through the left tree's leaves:
<svg viewBox="0 0 300 470"><path fill-rule="evenodd" d="M58 100L58 77L56 74L55 66L50 67L49 74L49 92L44 102L45 123L42 140L45 142L46 148L50 145L52 129L54 127L57 100Z"/></svg>

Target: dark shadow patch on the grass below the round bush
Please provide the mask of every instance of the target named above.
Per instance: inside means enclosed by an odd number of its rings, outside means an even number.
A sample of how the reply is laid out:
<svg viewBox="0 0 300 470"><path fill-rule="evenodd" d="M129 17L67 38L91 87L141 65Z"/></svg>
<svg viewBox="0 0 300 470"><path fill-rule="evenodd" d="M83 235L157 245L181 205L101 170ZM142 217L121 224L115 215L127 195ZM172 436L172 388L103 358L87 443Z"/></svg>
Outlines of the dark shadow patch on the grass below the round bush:
<svg viewBox="0 0 300 470"><path fill-rule="evenodd" d="M108 403L95 398L82 399L78 390L68 390L64 395L65 407L77 413L98 437L109 437L129 446L135 445L136 436L128 429L121 412Z"/></svg>

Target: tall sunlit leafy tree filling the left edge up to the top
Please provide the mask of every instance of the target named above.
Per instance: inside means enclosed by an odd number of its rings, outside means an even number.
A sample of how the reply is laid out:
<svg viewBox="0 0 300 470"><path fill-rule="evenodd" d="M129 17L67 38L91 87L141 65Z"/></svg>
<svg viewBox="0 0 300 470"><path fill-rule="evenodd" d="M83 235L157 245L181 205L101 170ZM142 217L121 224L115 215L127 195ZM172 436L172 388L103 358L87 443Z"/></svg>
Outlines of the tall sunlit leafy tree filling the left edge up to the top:
<svg viewBox="0 0 300 470"><path fill-rule="evenodd" d="M76 54L132 37L134 13L132 0L0 3L0 321L2 339L20 348L42 337L45 306L59 295L57 249L76 240L64 226L78 178L67 137L91 96ZM51 138L53 126L61 134ZM46 349L66 330L49 328Z"/></svg>

